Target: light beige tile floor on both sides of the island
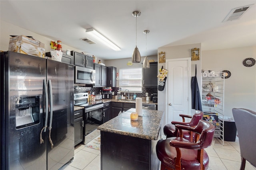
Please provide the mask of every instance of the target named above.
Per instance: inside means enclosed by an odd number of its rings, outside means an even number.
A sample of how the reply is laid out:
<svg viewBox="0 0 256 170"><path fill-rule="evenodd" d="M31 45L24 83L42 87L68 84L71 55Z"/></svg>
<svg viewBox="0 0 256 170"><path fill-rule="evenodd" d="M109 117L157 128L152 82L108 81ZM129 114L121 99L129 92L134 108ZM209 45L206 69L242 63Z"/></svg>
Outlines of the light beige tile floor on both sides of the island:
<svg viewBox="0 0 256 170"><path fill-rule="evenodd" d="M224 141L224 145L214 138L212 146L206 149L210 164L208 170L239 170L241 157L238 140ZM84 145L75 147L74 160L61 170L100 170L100 150L90 149ZM256 170L246 162L245 170Z"/></svg>

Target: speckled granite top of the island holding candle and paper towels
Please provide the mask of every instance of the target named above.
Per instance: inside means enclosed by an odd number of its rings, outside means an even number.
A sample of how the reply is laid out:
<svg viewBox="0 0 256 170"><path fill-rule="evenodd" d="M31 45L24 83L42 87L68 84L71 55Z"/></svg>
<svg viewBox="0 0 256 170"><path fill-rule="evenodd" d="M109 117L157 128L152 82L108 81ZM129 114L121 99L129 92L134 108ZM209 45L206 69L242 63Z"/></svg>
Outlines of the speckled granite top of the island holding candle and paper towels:
<svg viewBox="0 0 256 170"><path fill-rule="evenodd" d="M130 114L133 111L135 111L135 108L131 108L110 119L100 125L98 130L142 139L157 140L161 130L164 111L142 109L142 114L144 115L138 117L138 121L131 121Z"/></svg>

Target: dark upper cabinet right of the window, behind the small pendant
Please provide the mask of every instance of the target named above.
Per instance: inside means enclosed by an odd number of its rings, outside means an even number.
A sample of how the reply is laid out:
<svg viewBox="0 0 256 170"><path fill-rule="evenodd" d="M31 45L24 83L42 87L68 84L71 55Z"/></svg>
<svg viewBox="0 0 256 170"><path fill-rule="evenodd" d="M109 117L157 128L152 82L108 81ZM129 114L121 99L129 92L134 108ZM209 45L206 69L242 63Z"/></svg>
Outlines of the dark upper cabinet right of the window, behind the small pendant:
<svg viewBox="0 0 256 170"><path fill-rule="evenodd" d="M143 87L157 87L157 62L150 63L149 68L142 68Z"/></svg>

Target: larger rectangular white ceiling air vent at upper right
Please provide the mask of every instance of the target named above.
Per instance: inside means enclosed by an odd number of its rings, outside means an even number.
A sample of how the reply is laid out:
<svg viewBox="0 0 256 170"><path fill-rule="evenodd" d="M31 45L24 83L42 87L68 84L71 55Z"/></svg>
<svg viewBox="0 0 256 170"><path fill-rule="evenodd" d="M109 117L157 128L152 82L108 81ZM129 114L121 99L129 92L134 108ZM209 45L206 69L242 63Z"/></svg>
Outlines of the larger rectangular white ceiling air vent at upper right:
<svg viewBox="0 0 256 170"><path fill-rule="evenodd" d="M234 21L234 20L238 20L242 17L242 15L248 11L248 9L253 6L254 4L252 5L248 5L248 6L242 6L242 7L239 7L239 8L234 8L231 10L231 12L228 14L228 16L223 20L223 22L226 22L226 21Z"/></svg>

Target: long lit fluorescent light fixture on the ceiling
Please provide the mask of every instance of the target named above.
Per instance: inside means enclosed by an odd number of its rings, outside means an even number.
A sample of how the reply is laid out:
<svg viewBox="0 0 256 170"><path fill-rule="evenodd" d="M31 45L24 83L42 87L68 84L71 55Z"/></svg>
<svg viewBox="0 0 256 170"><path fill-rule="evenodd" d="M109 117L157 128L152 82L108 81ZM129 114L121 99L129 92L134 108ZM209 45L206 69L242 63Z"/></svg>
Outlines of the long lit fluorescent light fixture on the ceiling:
<svg viewBox="0 0 256 170"><path fill-rule="evenodd" d="M86 33L92 35L94 38L98 39L100 42L104 43L106 46L110 47L114 51L121 51L118 46L116 46L114 43L106 39L103 35L98 33L94 28L86 29Z"/></svg>

